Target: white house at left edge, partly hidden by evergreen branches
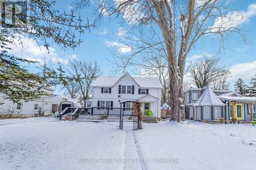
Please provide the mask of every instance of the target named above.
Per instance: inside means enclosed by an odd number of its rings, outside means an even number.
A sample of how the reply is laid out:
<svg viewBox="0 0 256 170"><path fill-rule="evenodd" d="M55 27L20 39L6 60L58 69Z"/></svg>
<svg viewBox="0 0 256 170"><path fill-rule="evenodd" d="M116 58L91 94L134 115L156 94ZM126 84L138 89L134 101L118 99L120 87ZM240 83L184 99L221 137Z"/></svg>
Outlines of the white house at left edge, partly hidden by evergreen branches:
<svg viewBox="0 0 256 170"><path fill-rule="evenodd" d="M28 90L31 90L31 89L28 88ZM51 96L44 95L38 99L34 99L33 101L29 101L29 102L20 101L19 103L13 103L10 100L1 100L1 102L4 102L4 104L0 105L0 113L14 111L15 114L23 114L25 116L34 116L40 113L44 113L45 111L51 112L52 100L53 100L52 95L53 95L54 89L42 87L42 90L46 91Z"/></svg>

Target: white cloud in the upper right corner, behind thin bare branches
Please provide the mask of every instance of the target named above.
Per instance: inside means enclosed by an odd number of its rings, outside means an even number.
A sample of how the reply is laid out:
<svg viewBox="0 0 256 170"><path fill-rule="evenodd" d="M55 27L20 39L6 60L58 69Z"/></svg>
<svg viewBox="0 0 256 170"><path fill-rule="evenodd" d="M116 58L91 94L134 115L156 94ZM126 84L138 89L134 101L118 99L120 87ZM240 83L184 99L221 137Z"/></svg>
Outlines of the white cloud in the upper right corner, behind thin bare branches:
<svg viewBox="0 0 256 170"><path fill-rule="evenodd" d="M232 11L225 16L218 17L209 32L225 31L232 27L236 28L242 23L249 21L249 18L256 15L256 4L250 4L247 11Z"/></svg>

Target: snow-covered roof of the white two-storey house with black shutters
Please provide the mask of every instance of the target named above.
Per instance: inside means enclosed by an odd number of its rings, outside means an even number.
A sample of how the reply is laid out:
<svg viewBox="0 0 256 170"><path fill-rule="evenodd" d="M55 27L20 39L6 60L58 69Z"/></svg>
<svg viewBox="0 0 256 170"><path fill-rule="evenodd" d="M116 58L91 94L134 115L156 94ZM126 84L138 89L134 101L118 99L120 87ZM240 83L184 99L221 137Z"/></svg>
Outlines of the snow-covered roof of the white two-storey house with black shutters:
<svg viewBox="0 0 256 170"><path fill-rule="evenodd" d="M128 74L127 72L125 74ZM124 75L125 75L124 74ZM123 76L122 76L123 77ZM98 77L92 84L93 87L112 87L114 86L122 77L108 77L101 76ZM132 77L134 81L144 88L163 88L161 82L157 77Z"/></svg>

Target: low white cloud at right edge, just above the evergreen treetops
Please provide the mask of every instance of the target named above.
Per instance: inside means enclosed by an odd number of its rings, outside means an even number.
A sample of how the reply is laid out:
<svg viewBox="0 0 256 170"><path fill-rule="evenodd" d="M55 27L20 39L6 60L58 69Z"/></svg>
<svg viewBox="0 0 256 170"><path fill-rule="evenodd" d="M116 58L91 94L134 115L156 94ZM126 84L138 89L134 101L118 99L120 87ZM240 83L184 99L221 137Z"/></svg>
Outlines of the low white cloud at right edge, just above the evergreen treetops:
<svg viewBox="0 0 256 170"><path fill-rule="evenodd" d="M229 78L230 84L237 81L238 78L243 79L245 82L249 82L256 73L256 60L251 63L240 63L231 66L231 77Z"/></svg>

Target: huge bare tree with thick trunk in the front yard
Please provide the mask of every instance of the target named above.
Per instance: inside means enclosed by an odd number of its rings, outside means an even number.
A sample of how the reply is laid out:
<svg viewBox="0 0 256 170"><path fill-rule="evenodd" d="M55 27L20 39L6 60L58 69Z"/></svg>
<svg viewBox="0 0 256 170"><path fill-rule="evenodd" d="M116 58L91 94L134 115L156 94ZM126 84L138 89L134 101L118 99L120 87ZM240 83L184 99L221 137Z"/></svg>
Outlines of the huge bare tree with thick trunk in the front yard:
<svg viewBox="0 0 256 170"><path fill-rule="evenodd" d="M89 1L77 2L84 5ZM229 15L231 9L226 8L219 0L102 0L99 1L97 11L102 16L122 16L130 24L130 32L137 35L126 35L121 40L120 46L132 49L130 53L115 57L115 62L122 70L144 53L154 51L158 45L163 46L167 57L170 107L174 120L177 121L185 119L183 76L186 57L196 46L196 42L213 34L215 38L219 38L220 48L224 48L223 42L229 33L238 33L245 39L241 30L233 25L238 17L243 17L242 14L233 11L238 14L233 18ZM146 31L141 31L143 29ZM160 40L155 41L154 37L160 37Z"/></svg>

